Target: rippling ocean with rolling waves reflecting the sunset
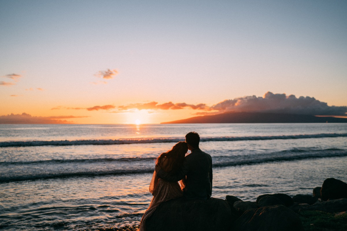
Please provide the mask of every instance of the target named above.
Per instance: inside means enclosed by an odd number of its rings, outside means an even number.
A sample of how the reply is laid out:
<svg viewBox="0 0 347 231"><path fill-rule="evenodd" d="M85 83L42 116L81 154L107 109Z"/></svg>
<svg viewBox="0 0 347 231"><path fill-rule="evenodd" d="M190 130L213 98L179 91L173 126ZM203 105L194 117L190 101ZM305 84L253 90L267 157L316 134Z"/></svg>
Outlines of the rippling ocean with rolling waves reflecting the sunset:
<svg viewBox="0 0 347 231"><path fill-rule="evenodd" d="M347 182L347 123L0 125L0 229L136 226L155 159L186 133L213 162L212 197L255 201Z"/></svg>

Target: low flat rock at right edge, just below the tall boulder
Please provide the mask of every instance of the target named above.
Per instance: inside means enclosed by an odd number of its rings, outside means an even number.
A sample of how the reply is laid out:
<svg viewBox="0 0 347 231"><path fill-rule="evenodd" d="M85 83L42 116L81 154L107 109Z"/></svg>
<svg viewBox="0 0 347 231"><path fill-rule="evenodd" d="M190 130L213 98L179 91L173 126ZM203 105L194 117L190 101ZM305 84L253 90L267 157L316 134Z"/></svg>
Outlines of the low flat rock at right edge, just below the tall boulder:
<svg viewBox="0 0 347 231"><path fill-rule="evenodd" d="M323 201L322 203L313 204L303 208L304 211L315 210L327 213L338 213L347 211L347 199L337 199L331 201Z"/></svg>

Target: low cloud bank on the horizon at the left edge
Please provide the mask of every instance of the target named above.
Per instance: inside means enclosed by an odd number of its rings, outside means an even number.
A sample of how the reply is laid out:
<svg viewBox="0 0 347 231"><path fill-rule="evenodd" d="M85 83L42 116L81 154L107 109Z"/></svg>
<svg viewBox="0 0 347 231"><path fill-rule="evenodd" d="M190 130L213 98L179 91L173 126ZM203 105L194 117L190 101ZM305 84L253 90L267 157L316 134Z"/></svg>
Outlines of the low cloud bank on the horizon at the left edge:
<svg viewBox="0 0 347 231"><path fill-rule="evenodd" d="M31 116L27 113L0 116L0 124L71 124L65 119L85 118L88 116Z"/></svg>

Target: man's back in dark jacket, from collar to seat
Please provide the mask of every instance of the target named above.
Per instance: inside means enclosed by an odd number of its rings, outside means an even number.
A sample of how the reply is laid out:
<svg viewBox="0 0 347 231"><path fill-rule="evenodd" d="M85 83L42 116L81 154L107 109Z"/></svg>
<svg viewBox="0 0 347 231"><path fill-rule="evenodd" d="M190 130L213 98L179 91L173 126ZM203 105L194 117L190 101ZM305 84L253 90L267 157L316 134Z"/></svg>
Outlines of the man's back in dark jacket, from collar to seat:
<svg viewBox="0 0 347 231"><path fill-rule="evenodd" d="M208 199L212 195L212 159L199 148L185 157L183 171L186 187L184 196L188 199Z"/></svg>

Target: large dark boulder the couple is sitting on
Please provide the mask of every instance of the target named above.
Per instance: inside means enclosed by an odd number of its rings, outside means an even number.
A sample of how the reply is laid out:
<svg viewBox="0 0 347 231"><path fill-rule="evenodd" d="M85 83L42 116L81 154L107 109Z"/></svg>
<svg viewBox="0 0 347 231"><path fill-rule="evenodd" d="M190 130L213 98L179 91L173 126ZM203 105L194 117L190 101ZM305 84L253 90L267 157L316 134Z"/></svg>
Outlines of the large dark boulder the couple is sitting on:
<svg viewBox="0 0 347 231"><path fill-rule="evenodd" d="M146 220L146 230L229 231L236 218L223 199L187 200L180 197L161 203Z"/></svg>

